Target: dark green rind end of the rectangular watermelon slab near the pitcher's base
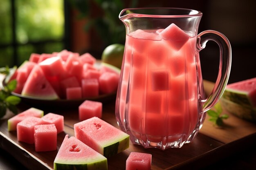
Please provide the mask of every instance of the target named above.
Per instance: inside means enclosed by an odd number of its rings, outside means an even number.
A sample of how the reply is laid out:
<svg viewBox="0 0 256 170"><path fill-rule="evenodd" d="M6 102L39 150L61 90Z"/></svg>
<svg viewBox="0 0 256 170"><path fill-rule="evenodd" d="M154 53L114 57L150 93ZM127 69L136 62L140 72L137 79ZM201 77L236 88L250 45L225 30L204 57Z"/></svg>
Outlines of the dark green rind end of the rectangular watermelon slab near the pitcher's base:
<svg viewBox="0 0 256 170"><path fill-rule="evenodd" d="M103 147L104 157L111 157L129 148L130 136L128 134L124 134L124 137L121 136L115 141L117 142L111 141L111 143L106 143L104 145L105 146Z"/></svg>

